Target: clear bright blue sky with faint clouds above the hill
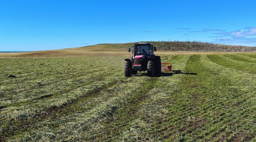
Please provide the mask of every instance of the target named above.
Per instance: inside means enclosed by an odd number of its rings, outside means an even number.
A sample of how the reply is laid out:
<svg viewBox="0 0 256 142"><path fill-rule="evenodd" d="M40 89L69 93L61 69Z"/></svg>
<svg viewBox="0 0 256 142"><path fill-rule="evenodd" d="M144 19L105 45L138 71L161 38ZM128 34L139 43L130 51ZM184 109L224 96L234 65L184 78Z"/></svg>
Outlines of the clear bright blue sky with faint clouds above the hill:
<svg viewBox="0 0 256 142"><path fill-rule="evenodd" d="M256 46L255 0L0 0L0 51L136 41Z"/></svg>

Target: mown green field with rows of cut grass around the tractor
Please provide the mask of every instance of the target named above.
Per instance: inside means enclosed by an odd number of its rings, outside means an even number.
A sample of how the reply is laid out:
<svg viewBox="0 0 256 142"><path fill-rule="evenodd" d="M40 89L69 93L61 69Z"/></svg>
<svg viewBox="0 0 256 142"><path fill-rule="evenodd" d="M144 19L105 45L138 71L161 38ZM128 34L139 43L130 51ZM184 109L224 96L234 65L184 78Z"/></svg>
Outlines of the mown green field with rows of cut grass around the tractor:
<svg viewBox="0 0 256 142"><path fill-rule="evenodd" d="M254 54L0 59L0 141L255 141Z"/></svg>

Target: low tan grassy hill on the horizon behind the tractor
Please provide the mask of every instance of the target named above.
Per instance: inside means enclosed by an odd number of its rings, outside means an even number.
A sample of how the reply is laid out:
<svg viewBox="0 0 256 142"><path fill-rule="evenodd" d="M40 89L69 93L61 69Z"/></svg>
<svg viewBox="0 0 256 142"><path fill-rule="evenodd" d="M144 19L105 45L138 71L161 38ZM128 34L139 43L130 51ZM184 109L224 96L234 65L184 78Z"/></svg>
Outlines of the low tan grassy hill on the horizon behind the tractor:
<svg viewBox="0 0 256 142"><path fill-rule="evenodd" d="M179 54L179 52L254 52L255 47L232 46L212 44L196 41L172 41L152 42L157 47L156 54ZM4 53L0 56L130 56L127 49L134 43L122 44L97 44L79 48L68 48L59 50L34 51L26 53ZM166 52L167 51L167 52Z"/></svg>

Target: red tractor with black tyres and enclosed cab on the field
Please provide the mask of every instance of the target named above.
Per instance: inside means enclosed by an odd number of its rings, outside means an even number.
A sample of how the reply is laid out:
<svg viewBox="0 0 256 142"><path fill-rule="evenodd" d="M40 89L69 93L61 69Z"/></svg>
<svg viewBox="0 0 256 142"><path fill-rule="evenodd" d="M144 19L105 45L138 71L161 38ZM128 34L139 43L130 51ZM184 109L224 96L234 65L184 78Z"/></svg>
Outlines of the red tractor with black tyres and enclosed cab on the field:
<svg viewBox="0 0 256 142"><path fill-rule="evenodd" d="M150 77L161 76L161 58L155 56L152 43L135 43L133 46L132 57L124 59L124 75L130 77L132 74L137 74L138 71L147 71ZM131 48L128 49L131 52Z"/></svg>

